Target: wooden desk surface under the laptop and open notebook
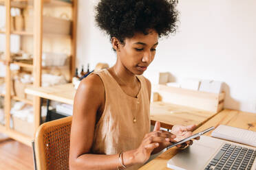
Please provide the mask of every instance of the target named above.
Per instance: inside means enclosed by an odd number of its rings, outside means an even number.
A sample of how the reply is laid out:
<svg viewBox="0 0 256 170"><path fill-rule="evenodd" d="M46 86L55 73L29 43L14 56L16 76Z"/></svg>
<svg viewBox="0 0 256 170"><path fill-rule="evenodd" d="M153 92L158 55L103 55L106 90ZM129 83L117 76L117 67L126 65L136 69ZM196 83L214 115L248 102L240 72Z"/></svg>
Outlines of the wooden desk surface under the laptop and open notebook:
<svg viewBox="0 0 256 170"><path fill-rule="evenodd" d="M233 127L239 127L246 130L253 130L256 132L256 114L241 112L237 110L222 110L222 112L216 114L212 119L206 121L203 125L198 127L193 133L198 133L207 127L218 125L231 125ZM211 132L205 134L211 136ZM140 170L169 170L167 168L167 161L177 154L179 149L171 148L160 154L160 156L148 162L146 165L140 168Z"/></svg>

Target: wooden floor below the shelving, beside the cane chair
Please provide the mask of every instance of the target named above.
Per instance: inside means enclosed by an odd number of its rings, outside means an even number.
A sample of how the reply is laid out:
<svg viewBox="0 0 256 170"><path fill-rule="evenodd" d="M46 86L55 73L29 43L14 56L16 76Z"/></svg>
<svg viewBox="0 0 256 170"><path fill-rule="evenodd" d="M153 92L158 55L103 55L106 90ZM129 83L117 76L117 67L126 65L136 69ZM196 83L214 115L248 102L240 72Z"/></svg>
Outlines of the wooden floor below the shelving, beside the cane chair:
<svg viewBox="0 0 256 170"><path fill-rule="evenodd" d="M34 169L32 147L10 138L3 138L3 135L0 134L0 169Z"/></svg>

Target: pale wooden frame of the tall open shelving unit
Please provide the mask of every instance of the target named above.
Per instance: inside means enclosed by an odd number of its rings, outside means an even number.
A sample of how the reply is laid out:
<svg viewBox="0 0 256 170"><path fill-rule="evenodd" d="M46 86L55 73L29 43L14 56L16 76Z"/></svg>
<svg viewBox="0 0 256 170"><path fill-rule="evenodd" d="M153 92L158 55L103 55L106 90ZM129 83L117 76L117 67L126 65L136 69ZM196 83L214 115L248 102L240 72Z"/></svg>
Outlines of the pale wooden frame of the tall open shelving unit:
<svg viewBox="0 0 256 170"><path fill-rule="evenodd" d="M34 77L34 87L40 87L41 86L41 75L43 71L47 70L56 70L63 73L66 73L65 76L67 81L70 82L72 80L72 75L74 75L75 71L75 58L76 58L76 18L77 18L77 0L72 0L71 3L67 1L61 1L61 0L0 0L0 5L4 5L6 8L6 27L3 30L0 30L0 34L5 34L6 40L6 51L4 51L5 58L1 58L0 62L3 62L6 65L6 77L5 84L6 84L6 94L0 94L0 97L4 97L4 111L5 111L5 125L0 124L0 133L7 134L10 136L10 138L14 138L17 141L20 141L21 143L24 143L26 145L31 145L31 141L33 139L33 136L28 136L25 134L22 134L20 132L17 132L11 127L11 119L12 116L10 114L10 110L12 108L12 102L11 101L23 101L25 104L32 105L34 110L34 134L37 130L37 128L40 125L40 119L41 119L41 100L39 97L33 97L32 100L24 99L22 97L19 97L17 95L12 94L12 71L10 70L10 64L17 64L20 66L21 70L30 71L30 73ZM28 8L32 8L32 15L33 15L33 23L32 23L32 30L11 30L12 27L12 16L11 16L11 9L12 8L19 8L23 12L24 10L27 10ZM71 11L71 19L70 19L70 34L58 34L56 30L54 30L54 33L51 32L44 32L43 25L47 24L47 21L44 20L43 14L45 13L44 10L47 12L51 11L52 9L56 12L58 9L67 9L69 8ZM64 10L65 11L65 10ZM25 21L24 21L25 22ZM55 23L54 23L55 24ZM25 23L24 23L25 25ZM52 25L54 27L54 25ZM32 64L20 62L17 60L13 60L11 55L11 35L17 35L21 38L21 49L23 47L30 47L32 49ZM58 40L61 38L65 38L66 44L69 46L67 48L69 57L69 63L65 64L64 66L42 66L42 53L43 52L49 52L50 48L47 48L47 42L49 40ZM29 40L28 40L29 39ZM47 39L47 40L45 40ZM60 40L60 43L63 41ZM54 42L54 45L58 44L57 42ZM50 47L54 45L48 45ZM58 51L60 51L61 47L58 48ZM24 50L25 51L25 50ZM52 52L54 53L54 47L52 49ZM58 53L58 52L56 52ZM67 78L68 77L68 78ZM22 128L22 127L21 127Z"/></svg>

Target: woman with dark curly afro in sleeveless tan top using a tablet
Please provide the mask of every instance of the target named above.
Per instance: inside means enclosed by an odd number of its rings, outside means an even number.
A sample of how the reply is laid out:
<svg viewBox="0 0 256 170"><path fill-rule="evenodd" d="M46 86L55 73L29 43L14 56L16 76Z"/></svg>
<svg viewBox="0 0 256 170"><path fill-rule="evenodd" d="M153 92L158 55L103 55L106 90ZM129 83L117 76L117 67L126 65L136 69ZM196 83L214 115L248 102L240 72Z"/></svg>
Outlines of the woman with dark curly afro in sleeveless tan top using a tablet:
<svg viewBox="0 0 256 170"><path fill-rule="evenodd" d="M138 169L151 154L191 135L195 125L150 132L151 84L142 76L158 38L175 32L177 12L168 0L102 0L96 23L110 36L116 64L92 73L74 99L70 169ZM191 145L191 141L187 144Z"/></svg>

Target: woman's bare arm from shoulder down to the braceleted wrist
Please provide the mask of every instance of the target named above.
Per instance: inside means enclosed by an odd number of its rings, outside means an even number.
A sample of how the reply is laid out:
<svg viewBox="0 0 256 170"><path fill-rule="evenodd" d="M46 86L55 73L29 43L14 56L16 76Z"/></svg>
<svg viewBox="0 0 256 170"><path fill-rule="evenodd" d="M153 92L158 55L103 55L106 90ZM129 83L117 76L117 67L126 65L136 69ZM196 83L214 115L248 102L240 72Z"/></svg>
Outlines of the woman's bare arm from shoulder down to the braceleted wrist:
<svg viewBox="0 0 256 170"><path fill-rule="evenodd" d="M96 114L104 104L103 82L98 75L89 75L82 80L74 99L70 136L70 169L116 169L121 167L118 154L89 154L94 138ZM123 155L127 166L134 164L132 154L133 151L129 151Z"/></svg>

